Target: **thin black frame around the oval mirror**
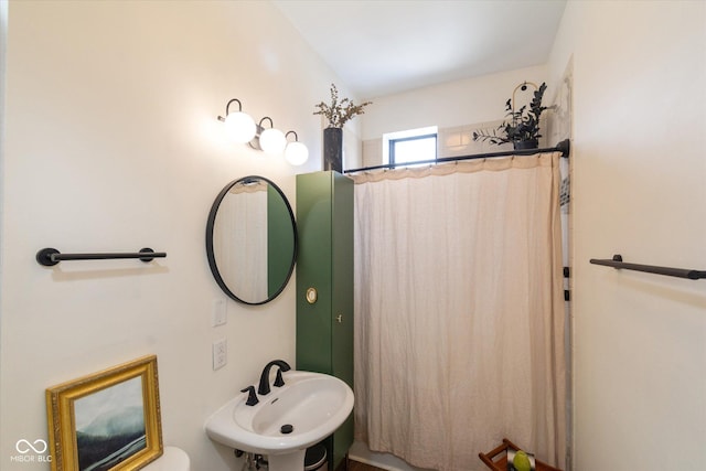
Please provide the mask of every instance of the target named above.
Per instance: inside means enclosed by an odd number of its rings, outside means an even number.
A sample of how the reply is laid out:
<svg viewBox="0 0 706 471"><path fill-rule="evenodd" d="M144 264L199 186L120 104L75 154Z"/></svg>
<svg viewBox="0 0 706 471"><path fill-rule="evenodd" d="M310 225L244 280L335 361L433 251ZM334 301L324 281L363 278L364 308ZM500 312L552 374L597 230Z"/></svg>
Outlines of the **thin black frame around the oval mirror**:
<svg viewBox="0 0 706 471"><path fill-rule="evenodd" d="M231 290L231 288L228 288L228 286L224 281L223 277L221 276L221 272L218 271L218 266L216 264L215 255L213 253L213 228L215 226L216 214L218 213L218 207L221 207L221 203L223 202L223 199L225 197L226 194L228 194L228 192L231 191L231 189L234 185L236 185L236 184L238 184L240 182L247 182L248 180L254 180L254 179L263 180L263 181L267 182L275 190L277 190L277 193L279 193L279 195L282 197L282 201L285 202L285 206L287 206L287 211L289 212L289 217L290 217L290 221L291 221L291 228L292 228L292 234L293 234L293 243L295 243L293 244L292 256L291 256L291 264L289 265L289 272L287 274L287 277L282 281L281 286L279 287L277 292L271 295L269 298L265 299L264 301L256 301L256 302L245 301L244 299L238 298ZM221 287L223 292L225 292L228 296L228 298L234 299L234 300L236 300L238 302L242 302L244 304L249 304L249 306L265 304L267 302L270 302L275 298L277 298L285 290L285 288L289 283L289 280L291 278L291 274L295 271L295 265L297 264L297 251L298 251L298 248L299 248L299 237L298 237L298 234L297 234L297 222L295 221L295 213L291 210L291 205L289 204L289 200L287 200L287 196L285 195L285 193L281 191L281 189L279 186L277 186L277 184L275 184L275 182L272 182L271 180L266 179L265 176L248 175L248 176L243 176L242 179L233 180L231 183L225 185L223 188L223 190L221 190L221 193L218 193L218 195L216 196L215 201L213 202L213 205L211 206L211 212L208 213L208 221L206 222L206 257L208 258L208 267L211 267L211 272L213 274L213 277L215 278L216 283L218 283L218 286Z"/></svg>

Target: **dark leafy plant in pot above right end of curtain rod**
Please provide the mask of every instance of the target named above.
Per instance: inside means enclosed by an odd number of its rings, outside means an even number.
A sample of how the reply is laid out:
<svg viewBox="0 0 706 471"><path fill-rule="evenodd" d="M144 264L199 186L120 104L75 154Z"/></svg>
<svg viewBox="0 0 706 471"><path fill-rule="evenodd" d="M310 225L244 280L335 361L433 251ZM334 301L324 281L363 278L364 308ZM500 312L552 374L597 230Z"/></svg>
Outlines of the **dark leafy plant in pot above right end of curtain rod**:
<svg viewBox="0 0 706 471"><path fill-rule="evenodd" d="M526 90L527 85L533 85L536 88L530 107L523 105L520 109L515 109L515 93L517 89ZM505 117L510 119L490 131L484 129L473 131L473 140L488 141L492 144L512 142L516 150L536 149L542 137L539 133L539 117L542 111L547 109L546 106L542 106L542 98L546 89L546 83L542 83L539 87L527 82L517 85L513 92L513 98L507 99L505 103L505 111L507 111Z"/></svg>

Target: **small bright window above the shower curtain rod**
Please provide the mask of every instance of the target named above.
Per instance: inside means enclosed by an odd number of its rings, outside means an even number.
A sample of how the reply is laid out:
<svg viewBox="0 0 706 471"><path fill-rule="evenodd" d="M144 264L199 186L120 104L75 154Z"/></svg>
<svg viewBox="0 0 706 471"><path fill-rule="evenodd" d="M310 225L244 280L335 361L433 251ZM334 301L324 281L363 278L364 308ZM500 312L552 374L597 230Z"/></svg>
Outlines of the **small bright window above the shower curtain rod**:
<svg viewBox="0 0 706 471"><path fill-rule="evenodd" d="M389 164L437 159L437 127L410 129L383 136L383 161Z"/></svg>

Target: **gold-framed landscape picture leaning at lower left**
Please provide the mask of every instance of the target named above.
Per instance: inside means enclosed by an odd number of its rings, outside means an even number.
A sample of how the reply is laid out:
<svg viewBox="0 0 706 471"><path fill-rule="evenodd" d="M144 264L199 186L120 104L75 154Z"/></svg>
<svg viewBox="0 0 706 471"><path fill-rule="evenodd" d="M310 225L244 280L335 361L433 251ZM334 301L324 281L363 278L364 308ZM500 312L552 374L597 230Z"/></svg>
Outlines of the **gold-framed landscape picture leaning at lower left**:
<svg viewBox="0 0 706 471"><path fill-rule="evenodd" d="M138 470L162 454L157 356L46 389L52 471Z"/></svg>

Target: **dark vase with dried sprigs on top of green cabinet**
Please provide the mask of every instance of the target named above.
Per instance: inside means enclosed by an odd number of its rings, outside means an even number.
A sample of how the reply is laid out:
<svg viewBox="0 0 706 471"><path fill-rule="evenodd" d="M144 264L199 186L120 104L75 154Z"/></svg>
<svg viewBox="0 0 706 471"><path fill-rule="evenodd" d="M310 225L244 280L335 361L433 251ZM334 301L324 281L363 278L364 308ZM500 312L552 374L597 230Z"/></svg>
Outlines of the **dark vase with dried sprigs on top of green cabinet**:
<svg viewBox="0 0 706 471"><path fill-rule="evenodd" d="M364 108L372 101L356 105L350 98L339 99L339 89L331 84L331 103L323 101L315 105L314 115L323 115L329 126L323 130L323 170L341 172L343 168L343 125L357 115L363 115Z"/></svg>

